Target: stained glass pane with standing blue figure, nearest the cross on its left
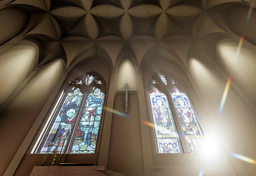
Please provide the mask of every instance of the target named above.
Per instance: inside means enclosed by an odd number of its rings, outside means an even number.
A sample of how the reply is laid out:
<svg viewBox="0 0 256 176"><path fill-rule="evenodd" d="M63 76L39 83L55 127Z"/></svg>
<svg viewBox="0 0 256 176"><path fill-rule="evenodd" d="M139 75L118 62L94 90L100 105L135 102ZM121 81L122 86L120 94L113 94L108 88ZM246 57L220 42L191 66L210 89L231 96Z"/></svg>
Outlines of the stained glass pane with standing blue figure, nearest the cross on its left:
<svg viewBox="0 0 256 176"><path fill-rule="evenodd" d="M71 153L94 153L105 94L99 88L87 96Z"/></svg>

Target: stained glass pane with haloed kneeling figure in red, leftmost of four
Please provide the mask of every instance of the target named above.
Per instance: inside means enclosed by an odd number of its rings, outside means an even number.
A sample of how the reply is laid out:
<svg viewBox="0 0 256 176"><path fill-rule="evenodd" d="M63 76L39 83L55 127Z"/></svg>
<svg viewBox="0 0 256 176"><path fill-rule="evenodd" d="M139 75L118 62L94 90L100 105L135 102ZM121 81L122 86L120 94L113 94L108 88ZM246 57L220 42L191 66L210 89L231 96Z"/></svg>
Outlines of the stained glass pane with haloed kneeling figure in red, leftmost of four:
<svg viewBox="0 0 256 176"><path fill-rule="evenodd" d="M65 149L83 95L79 88L67 94L39 153L52 153L59 140L58 151Z"/></svg>

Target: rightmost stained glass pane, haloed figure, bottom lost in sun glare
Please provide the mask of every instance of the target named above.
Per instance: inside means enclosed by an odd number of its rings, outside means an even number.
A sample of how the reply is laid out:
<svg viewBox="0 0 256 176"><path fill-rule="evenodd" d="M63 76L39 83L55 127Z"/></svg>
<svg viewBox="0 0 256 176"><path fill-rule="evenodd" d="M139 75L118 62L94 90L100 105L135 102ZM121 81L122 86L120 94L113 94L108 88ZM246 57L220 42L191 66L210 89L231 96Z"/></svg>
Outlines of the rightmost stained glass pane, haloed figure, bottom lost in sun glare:
<svg viewBox="0 0 256 176"><path fill-rule="evenodd" d="M193 152L194 150L193 146L196 147L196 150L199 150L200 141L203 139L203 132L188 96L175 89L172 92L172 100L191 151Z"/></svg>

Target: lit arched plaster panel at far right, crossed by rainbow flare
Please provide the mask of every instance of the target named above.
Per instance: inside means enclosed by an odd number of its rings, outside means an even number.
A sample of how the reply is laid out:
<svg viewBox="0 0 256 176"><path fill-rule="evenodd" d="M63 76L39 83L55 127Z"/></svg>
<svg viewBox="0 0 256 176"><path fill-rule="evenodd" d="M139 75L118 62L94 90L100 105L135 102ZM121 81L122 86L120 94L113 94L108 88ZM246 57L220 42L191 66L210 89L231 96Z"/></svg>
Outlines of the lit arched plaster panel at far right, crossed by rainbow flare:
<svg viewBox="0 0 256 176"><path fill-rule="evenodd" d="M244 41L236 59L237 46L236 41L221 41L217 45L220 61L232 81L256 107L256 47Z"/></svg>

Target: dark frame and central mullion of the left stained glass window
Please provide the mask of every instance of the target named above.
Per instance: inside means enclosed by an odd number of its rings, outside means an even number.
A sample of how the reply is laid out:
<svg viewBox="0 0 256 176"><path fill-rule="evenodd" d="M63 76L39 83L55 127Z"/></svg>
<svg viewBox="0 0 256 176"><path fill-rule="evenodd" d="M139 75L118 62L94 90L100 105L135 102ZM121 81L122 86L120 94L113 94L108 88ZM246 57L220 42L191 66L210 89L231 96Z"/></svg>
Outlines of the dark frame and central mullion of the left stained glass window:
<svg viewBox="0 0 256 176"><path fill-rule="evenodd" d="M101 78L101 82L102 83L104 82L102 78ZM80 91L83 93L83 98L81 100L80 107L78 109L76 119L74 121L74 125L73 125L72 130L70 132L70 135L68 137L66 147L62 151L62 154L64 154L64 153L65 154L76 154L76 153L70 153L70 152L72 150L73 142L75 140L78 125L80 124L80 120L81 120L81 117L82 117L82 114L83 114L83 109L84 109L84 106L85 106L87 96L89 95L90 92L94 91L94 89L92 87L95 87L95 86L93 86L93 83L90 84L89 86L87 86L86 84L82 84L82 85L84 85L84 86L81 86L81 84L70 84L70 85L66 86L65 89L60 88L60 91L57 93L57 95L56 95L56 97L55 97L55 99L54 99L54 101L51 105L51 108L49 108L48 112L46 113L46 116L45 116L46 118L44 119L45 123L42 124L41 129L38 130L39 135L36 136L36 140L33 142L33 144L32 144L33 146L31 146L32 149L31 149L30 154L40 154L39 152L42 149L42 146L44 145L44 141L47 138L47 136L49 134L49 131L52 128L52 125L53 125L53 123L54 123L54 121L57 117L57 114L58 114L58 112L59 112L67 94L69 92L73 92L77 88L80 88ZM100 85L100 84L97 84L97 85ZM62 87L64 87L64 86L62 86ZM73 88L73 87L75 87L75 88ZM98 87L95 87L95 88L98 88ZM107 102L105 100L105 98L107 96L106 87L105 87L105 85L104 86L100 85L99 88L100 88L100 91L104 92L104 94L105 94L104 102L103 102L103 107L105 107L106 102ZM62 92L63 92L63 94L62 94ZM52 114L52 116L51 116L51 114ZM97 141L96 141L96 147L95 147L94 153L92 153L92 154L96 154L98 152L97 148L100 145L99 140L101 140L101 136L102 136L102 123L104 123L104 116L105 116L105 110L103 108L102 112L101 112L100 126L99 126L99 133L98 133ZM47 124L48 120L49 120L49 122ZM45 125L47 125L47 127L44 129Z"/></svg>

